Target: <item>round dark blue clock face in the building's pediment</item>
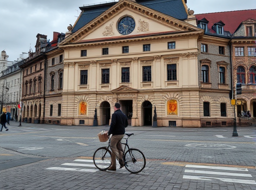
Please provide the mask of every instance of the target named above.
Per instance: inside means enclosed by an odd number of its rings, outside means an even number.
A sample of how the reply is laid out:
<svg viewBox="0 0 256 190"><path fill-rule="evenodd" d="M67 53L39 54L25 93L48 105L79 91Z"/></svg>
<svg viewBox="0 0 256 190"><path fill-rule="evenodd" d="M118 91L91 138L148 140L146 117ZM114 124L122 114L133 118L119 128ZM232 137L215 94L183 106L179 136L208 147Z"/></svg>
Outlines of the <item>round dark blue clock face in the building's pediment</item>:
<svg viewBox="0 0 256 190"><path fill-rule="evenodd" d="M117 25L117 30L122 35L127 35L131 33L135 28L135 21L130 16L122 17Z"/></svg>

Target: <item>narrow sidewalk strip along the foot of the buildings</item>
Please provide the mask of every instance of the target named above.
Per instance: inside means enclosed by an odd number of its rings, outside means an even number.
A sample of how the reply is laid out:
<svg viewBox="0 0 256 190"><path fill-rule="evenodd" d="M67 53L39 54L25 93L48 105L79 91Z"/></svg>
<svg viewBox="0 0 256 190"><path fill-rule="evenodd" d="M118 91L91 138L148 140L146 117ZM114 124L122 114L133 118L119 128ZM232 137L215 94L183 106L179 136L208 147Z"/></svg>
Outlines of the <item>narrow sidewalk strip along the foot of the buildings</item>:
<svg viewBox="0 0 256 190"><path fill-rule="evenodd" d="M19 126L18 121L10 121L11 126L18 127L42 127L42 128L86 128L86 129L99 129L99 130L108 130L109 125L101 125L101 126L88 126L88 125L59 125L59 124L35 124L35 123L26 123L21 122L21 126ZM8 126L8 125L7 125ZM256 125L248 125L248 126L237 126L237 131L248 129L253 130ZM233 131L233 126L210 126L210 127L152 127L152 126L130 126L126 127L126 132L128 130L141 130L141 131L188 131L188 132L197 132L197 131Z"/></svg>

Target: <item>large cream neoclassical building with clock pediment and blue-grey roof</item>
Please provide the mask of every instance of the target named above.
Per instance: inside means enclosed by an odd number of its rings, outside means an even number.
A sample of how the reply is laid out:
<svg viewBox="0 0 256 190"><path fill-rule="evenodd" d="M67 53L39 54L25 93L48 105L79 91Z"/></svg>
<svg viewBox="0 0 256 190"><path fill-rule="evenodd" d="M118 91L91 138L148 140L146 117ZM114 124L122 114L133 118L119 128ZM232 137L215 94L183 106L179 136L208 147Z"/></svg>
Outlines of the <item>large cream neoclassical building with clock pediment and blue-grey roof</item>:
<svg viewBox="0 0 256 190"><path fill-rule="evenodd" d="M152 125L154 110L157 126L232 125L229 40L205 36L185 0L119 0L80 9L59 43L60 124L92 125L95 111L99 125L109 124L119 102L132 126Z"/></svg>

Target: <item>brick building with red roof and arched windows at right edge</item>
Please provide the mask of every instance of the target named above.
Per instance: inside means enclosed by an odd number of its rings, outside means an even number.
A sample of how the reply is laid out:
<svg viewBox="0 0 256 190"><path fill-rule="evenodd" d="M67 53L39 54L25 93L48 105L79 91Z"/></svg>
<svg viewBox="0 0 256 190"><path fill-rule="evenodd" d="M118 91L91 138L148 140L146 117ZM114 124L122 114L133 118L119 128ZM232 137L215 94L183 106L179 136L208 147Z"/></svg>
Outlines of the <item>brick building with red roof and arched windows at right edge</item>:
<svg viewBox="0 0 256 190"><path fill-rule="evenodd" d="M198 27L204 29L205 35L229 38L228 49L219 46L218 51L223 53L223 56L226 53L230 54L232 85L230 98L237 100L235 114L244 116L250 110L251 116L255 117L256 9L203 13L195 16ZM242 94L236 95L237 83L242 85Z"/></svg>

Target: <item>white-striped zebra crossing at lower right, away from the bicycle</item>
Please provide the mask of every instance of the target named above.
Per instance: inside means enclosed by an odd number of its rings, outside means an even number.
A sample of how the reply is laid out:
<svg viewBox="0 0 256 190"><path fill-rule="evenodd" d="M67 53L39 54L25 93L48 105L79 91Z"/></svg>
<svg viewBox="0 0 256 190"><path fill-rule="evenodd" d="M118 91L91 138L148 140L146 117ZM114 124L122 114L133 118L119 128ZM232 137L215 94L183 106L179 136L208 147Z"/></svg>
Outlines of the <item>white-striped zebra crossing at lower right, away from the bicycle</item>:
<svg viewBox="0 0 256 190"><path fill-rule="evenodd" d="M186 164L183 179L256 184L247 168Z"/></svg>

